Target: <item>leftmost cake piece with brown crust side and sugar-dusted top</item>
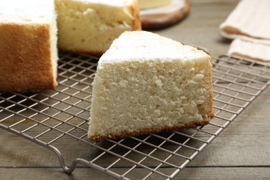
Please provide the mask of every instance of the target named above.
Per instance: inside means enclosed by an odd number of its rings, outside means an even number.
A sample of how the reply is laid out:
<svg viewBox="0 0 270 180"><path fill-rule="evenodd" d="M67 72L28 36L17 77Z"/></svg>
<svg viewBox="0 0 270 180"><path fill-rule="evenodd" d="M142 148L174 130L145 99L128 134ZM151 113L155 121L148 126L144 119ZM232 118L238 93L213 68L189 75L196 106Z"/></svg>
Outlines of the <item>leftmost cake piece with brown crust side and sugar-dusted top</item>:
<svg viewBox="0 0 270 180"><path fill-rule="evenodd" d="M0 91L55 88L57 59L54 1L0 1Z"/></svg>

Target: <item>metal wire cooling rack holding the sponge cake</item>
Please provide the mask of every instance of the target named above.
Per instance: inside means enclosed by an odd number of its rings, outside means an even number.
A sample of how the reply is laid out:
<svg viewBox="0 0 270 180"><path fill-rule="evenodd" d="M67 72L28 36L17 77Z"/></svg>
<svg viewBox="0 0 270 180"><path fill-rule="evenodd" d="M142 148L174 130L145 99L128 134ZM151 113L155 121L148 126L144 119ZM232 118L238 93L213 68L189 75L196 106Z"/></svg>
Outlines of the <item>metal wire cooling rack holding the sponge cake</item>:
<svg viewBox="0 0 270 180"><path fill-rule="evenodd" d="M118 179L134 174L136 179L173 179L270 84L267 64L213 57L215 118L210 124L94 143L87 139L87 123L97 62L97 57L62 53L56 90L0 92L1 129L55 152L65 172L83 164ZM67 163L64 152L74 147L81 152Z"/></svg>

